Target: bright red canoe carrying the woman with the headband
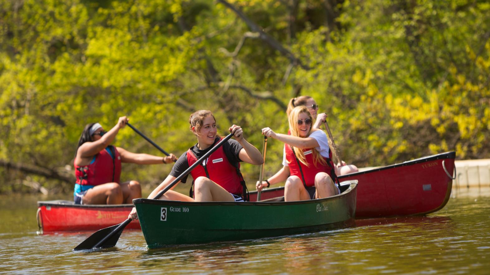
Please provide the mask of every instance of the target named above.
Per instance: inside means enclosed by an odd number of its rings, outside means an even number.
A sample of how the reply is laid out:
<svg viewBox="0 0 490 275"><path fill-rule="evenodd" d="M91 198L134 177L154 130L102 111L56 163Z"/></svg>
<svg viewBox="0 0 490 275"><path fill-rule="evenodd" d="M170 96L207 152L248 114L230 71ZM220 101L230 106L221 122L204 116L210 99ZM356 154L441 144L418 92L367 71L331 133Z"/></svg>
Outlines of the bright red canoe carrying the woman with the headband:
<svg viewBox="0 0 490 275"><path fill-rule="evenodd" d="M69 200L38 201L37 205L37 222L43 233L95 231L117 225L133 208L133 204L80 205ZM131 221L126 228L141 229L139 221Z"/></svg>

